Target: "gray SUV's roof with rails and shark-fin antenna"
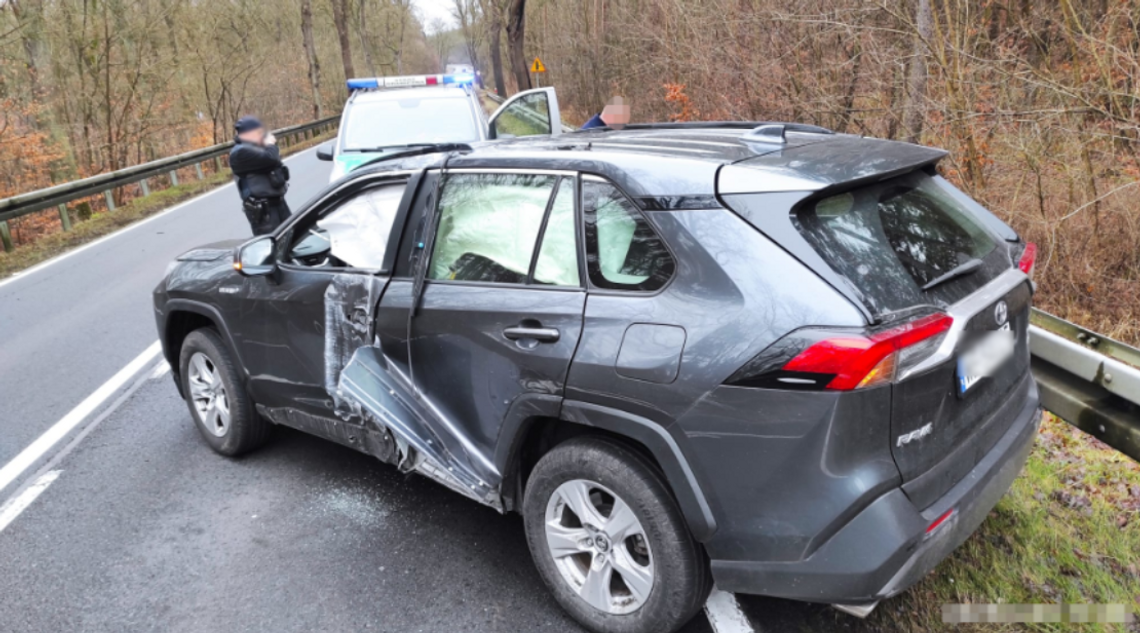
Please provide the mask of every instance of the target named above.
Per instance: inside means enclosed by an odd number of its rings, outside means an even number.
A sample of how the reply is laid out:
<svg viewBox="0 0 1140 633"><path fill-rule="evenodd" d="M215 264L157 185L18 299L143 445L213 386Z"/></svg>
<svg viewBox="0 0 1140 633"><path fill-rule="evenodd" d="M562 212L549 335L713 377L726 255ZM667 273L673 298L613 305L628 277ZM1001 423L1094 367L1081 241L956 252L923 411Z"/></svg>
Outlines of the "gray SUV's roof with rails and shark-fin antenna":
<svg viewBox="0 0 1140 633"><path fill-rule="evenodd" d="M707 204L717 193L717 172L724 165L755 171L756 192L766 181L797 178L807 189L847 185L886 173L929 165L943 149L909 143L833 133L798 131L788 124L785 143L746 137L750 123L635 125L624 130L580 130L557 137L528 137L472 145L470 152L447 155L449 169L535 169L596 173L613 180L629 195L653 208ZM434 155L394 159L370 171L441 167ZM772 185L775 187L775 185Z"/></svg>

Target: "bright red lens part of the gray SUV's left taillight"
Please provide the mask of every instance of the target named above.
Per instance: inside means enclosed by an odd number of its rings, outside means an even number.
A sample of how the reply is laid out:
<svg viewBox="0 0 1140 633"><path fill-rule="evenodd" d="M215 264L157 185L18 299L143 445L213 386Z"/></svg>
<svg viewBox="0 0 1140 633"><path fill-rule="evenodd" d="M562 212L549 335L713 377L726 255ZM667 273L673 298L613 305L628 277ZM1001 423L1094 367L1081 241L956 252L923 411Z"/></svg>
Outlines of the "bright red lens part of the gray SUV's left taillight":
<svg viewBox="0 0 1140 633"><path fill-rule="evenodd" d="M886 384L895 380L901 365L913 365L921 359L905 355L907 348L933 341L953 323L951 316L936 314L870 335L829 336L796 355L783 371L830 375L824 388L832 391ZM929 351L934 351L933 347Z"/></svg>

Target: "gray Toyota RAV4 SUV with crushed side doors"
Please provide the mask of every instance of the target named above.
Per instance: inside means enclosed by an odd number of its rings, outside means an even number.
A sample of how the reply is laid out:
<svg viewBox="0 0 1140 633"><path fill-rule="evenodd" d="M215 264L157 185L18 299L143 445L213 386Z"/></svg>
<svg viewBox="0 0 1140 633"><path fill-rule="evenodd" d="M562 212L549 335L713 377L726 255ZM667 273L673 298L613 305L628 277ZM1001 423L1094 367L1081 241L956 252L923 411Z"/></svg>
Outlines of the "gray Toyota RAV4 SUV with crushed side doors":
<svg viewBox="0 0 1140 633"><path fill-rule="evenodd" d="M292 427L521 512L593 631L714 582L865 614L1040 420L1035 249L944 156L782 123L416 148L179 258L158 332L215 451Z"/></svg>

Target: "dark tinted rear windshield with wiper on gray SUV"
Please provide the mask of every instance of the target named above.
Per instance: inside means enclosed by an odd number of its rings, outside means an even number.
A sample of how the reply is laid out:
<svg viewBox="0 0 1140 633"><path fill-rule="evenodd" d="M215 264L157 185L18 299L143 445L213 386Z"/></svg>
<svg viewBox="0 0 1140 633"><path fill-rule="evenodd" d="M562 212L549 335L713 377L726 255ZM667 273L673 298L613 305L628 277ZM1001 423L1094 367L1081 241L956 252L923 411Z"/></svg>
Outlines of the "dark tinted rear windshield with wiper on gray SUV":
<svg viewBox="0 0 1140 633"><path fill-rule="evenodd" d="M808 202L793 219L876 311L952 302L1003 269L983 219L926 172Z"/></svg>

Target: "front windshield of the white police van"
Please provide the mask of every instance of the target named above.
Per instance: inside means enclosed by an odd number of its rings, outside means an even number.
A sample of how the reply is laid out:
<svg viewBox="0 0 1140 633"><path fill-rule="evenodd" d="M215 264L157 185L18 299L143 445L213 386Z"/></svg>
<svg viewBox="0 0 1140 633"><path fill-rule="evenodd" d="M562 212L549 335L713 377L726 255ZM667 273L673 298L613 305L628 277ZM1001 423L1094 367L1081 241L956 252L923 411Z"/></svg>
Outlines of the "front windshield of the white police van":
<svg viewBox="0 0 1140 633"><path fill-rule="evenodd" d="M342 152L367 152L425 143L479 140L466 98L412 97L352 104Z"/></svg>

